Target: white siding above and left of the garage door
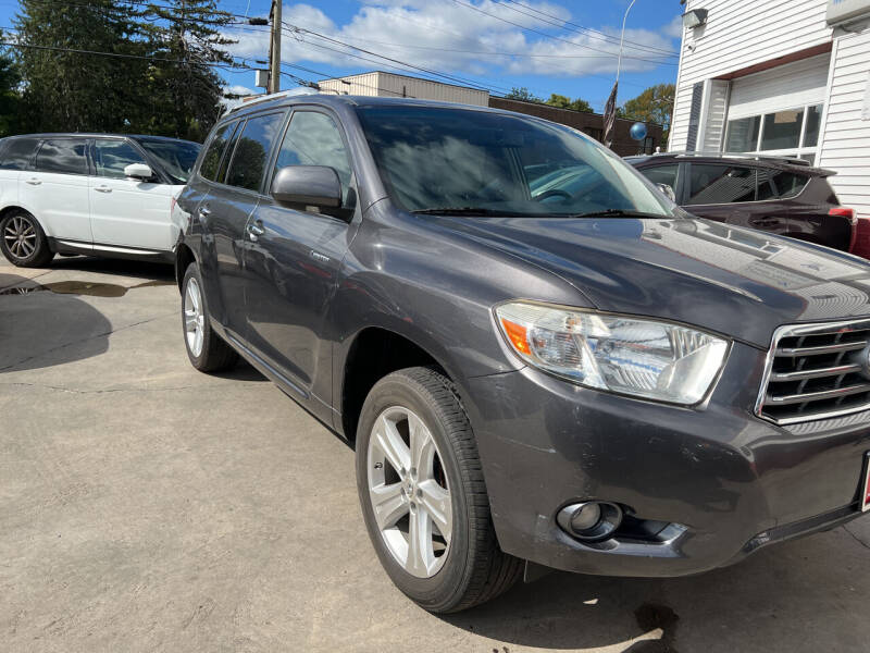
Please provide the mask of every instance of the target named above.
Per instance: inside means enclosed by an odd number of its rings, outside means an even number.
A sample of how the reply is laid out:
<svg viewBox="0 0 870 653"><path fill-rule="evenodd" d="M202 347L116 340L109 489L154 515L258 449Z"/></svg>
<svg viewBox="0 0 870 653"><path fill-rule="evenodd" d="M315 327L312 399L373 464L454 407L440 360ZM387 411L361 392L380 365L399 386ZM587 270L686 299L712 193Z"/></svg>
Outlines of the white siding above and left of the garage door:
<svg viewBox="0 0 870 653"><path fill-rule="evenodd" d="M686 11L708 10L707 24L686 29L680 53L670 149L686 149L692 91L721 77L831 40L825 0L688 0ZM708 109L711 104L706 104ZM722 120L709 111L701 121ZM720 127L721 128L721 127ZM697 147L709 138L699 132ZM710 138L714 138L710 136ZM721 139L721 134L720 134Z"/></svg>

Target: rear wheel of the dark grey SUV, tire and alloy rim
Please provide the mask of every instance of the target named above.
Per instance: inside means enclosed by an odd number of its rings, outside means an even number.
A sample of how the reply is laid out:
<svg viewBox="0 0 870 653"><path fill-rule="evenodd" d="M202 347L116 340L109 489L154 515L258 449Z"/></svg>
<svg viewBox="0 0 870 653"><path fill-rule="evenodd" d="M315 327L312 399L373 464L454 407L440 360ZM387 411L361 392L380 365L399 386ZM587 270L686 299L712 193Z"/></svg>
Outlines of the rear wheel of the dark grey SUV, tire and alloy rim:
<svg viewBox="0 0 870 653"><path fill-rule="evenodd" d="M211 328L202 276L196 263L187 266L182 282L182 329L190 365L200 372L217 372L233 367L238 354Z"/></svg>

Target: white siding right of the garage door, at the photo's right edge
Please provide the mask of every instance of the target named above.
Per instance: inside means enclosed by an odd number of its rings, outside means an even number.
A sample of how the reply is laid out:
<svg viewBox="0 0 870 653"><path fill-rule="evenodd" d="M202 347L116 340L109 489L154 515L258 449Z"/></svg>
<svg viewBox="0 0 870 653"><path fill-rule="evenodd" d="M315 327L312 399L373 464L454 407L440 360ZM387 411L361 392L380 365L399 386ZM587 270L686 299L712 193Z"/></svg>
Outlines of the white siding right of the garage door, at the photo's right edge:
<svg viewBox="0 0 870 653"><path fill-rule="evenodd" d="M840 201L870 218L870 115L861 109L870 94L870 29L836 39L828 114L819 164L831 177Z"/></svg>

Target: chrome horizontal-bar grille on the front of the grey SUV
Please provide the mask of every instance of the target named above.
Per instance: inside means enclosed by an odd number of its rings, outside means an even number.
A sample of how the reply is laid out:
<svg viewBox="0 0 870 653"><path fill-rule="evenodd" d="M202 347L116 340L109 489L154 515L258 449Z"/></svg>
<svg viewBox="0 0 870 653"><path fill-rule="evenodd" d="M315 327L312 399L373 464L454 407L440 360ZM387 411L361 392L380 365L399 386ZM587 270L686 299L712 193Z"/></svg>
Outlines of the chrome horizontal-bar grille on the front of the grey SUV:
<svg viewBox="0 0 870 653"><path fill-rule="evenodd" d="M756 414L791 424L870 409L870 320L795 324L773 335Z"/></svg>

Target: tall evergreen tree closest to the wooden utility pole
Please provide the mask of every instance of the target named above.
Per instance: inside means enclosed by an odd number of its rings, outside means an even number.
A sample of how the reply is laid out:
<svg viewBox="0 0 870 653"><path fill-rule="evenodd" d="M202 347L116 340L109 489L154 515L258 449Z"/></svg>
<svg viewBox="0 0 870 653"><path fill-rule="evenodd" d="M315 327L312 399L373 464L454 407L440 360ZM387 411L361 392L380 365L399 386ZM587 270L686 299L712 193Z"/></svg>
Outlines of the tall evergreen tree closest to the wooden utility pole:
<svg viewBox="0 0 870 653"><path fill-rule="evenodd" d="M147 10L158 20L148 28L154 61L148 70L149 133L202 140L221 115L223 84L213 64L233 66L222 36L233 16L215 0L169 0ZM177 63L181 62L181 63Z"/></svg>

